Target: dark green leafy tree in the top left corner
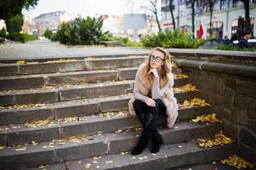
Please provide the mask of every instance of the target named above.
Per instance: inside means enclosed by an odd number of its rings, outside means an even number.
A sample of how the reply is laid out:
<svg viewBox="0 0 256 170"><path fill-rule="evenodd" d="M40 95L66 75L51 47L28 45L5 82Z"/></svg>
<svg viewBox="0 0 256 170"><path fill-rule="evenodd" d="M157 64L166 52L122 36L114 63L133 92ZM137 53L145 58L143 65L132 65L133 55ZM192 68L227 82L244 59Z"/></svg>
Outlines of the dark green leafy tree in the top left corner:
<svg viewBox="0 0 256 170"><path fill-rule="evenodd" d="M18 18L20 18L20 14L22 14L22 9L25 8L28 10L35 8L37 1L38 0L0 0L0 20L5 20L8 32L14 32L12 31L13 27L10 26L13 25L11 24L11 20L20 20Z"/></svg>

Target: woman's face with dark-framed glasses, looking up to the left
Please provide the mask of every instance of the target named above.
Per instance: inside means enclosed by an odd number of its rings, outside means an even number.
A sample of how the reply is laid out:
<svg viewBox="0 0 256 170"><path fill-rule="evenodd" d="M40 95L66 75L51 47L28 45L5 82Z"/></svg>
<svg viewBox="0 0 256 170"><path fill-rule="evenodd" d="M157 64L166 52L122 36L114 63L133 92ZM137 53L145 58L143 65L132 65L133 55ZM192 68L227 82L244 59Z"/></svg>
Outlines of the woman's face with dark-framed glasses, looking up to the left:
<svg viewBox="0 0 256 170"><path fill-rule="evenodd" d="M164 65L164 54L160 51L153 51L152 54L150 55L150 61L151 61L151 68L157 69Z"/></svg>

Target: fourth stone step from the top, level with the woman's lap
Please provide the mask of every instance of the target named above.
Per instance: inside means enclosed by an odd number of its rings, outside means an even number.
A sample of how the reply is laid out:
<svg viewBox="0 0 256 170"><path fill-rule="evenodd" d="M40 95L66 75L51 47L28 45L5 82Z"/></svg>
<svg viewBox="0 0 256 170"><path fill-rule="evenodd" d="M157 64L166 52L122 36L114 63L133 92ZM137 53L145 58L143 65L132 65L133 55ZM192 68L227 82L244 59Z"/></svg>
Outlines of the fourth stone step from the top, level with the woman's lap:
<svg viewBox="0 0 256 170"><path fill-rule="evenodd" d="M178 101L198 96L198 92L175 93ZM76 99L54 102L53 104L38 104L25 108L14 106L2 107L0 110L0 125L11 123L32 122L42 119L60 119L70 116L89 116L107 111L128 109L128 100L132 94L122 94L95 99Z"/></svg>

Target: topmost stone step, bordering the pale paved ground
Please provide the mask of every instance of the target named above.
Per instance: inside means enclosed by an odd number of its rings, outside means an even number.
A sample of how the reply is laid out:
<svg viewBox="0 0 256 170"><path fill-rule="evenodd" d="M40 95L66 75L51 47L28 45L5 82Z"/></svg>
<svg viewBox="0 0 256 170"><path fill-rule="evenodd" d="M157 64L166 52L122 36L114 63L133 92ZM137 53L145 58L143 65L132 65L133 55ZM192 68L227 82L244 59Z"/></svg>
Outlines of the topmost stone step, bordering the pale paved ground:
<svg viewBox="0 0 256 170"><path fill-rule="evenodd" d="M89 70L104 70L114 69L120 67L134 67L139 66L146 56L132 56L132 57L117 57L117 58L85 58L72 59L66 61L49 60L41 63L31 64L6 64L0 65L0 76L17 76L30 74L45 74L54 72L68 72L68 71L89 71Z"/></svg>

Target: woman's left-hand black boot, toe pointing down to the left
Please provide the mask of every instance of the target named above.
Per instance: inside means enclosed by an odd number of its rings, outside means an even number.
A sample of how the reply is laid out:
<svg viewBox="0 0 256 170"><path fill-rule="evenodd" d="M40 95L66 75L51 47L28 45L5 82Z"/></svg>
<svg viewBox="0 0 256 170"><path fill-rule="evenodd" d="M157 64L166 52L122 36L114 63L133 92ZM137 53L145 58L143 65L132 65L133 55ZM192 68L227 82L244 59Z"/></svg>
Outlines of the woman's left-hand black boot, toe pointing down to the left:
<svg viewBox="0 0 256 170"><path fill-rule="evenodd" d="M149 129L146 128L142 131L139 139L139 144L135 146L134 150L131 151L131 154L133 156L139 155L143 150L145 150L145 148L150 142L150 139L151 139L151 133Z"/></svg>

